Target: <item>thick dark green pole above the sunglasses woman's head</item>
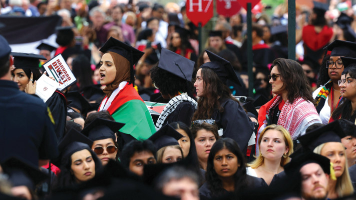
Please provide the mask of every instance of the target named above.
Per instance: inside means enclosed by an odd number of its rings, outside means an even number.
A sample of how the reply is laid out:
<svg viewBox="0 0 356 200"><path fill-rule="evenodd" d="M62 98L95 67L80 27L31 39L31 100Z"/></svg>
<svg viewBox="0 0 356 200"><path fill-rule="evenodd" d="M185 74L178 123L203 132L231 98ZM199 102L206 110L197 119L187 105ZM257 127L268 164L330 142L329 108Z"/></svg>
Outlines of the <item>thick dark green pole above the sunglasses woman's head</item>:
<svg viewBox="0 0 356 200"><path fill-rule="evenodd" d="M295 60L295 0L288 0L288 58Z"/></svg>

